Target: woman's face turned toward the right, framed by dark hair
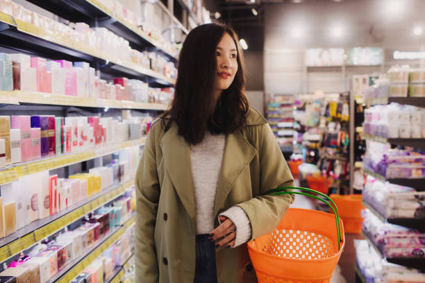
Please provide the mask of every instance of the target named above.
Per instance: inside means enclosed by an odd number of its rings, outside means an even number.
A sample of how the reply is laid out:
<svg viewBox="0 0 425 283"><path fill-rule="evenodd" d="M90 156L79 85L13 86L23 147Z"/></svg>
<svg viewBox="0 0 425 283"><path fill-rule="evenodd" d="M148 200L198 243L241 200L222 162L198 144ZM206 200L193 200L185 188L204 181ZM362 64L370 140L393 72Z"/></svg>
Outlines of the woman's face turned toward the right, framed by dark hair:
<svg viewBox="0 0 425 283"><path fill-rule="evenodd" d="M224 33L222 40L217 45L217 79L216 89L219 94L228 89L238 71L238 51L233 38Z"/></svg>

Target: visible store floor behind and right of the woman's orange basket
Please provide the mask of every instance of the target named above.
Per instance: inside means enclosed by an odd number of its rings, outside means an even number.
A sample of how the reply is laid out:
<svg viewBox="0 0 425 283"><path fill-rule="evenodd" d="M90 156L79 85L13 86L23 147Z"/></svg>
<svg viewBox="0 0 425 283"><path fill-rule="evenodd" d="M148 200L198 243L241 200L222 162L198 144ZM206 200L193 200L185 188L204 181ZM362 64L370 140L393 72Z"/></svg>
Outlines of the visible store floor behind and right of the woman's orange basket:
<svg viewBox="0 0 425 283"><path fill-rule="evenodd" d="M306 196L297 195L291 207L299 207L306 209L315 209L315 200ZM362 239L359 234L345 234L345 247L342 252L338 266L333 273L331 283L354 283L356 275L354 264L356 264L356 250L354 249L353 240Z"/></svg>

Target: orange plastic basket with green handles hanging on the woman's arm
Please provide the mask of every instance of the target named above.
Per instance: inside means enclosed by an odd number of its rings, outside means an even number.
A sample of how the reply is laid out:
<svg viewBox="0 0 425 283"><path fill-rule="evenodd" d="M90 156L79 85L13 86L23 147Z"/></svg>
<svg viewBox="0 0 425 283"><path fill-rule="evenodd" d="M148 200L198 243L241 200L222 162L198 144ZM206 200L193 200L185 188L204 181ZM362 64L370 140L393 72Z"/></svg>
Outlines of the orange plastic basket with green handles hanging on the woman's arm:
<svg viewBox="0 0 425 283"><path fill-rule="evenodd" d="M299 189L323 196L333 205L313 194L288 189ZM290 208L273 232L249 241L249 256L258 282L331 282L345 243L344 228L333 200L319 191L299 187L273 189L267 194L309 196L322 200L334 213Z"/></svg>

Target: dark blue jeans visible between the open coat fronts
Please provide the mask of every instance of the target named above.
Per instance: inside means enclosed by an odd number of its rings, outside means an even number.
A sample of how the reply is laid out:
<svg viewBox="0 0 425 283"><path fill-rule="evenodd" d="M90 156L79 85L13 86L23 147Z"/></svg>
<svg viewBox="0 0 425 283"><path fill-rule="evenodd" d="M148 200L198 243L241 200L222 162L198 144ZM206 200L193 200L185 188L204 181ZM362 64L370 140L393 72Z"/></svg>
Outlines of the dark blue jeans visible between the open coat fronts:
<svg viewBox="0 0 425 283"><path fill-rule="evenodd" d="M217 283L215 266L215 243L208 239L210 235L197 235L197 268L194 283Z"/></svg>

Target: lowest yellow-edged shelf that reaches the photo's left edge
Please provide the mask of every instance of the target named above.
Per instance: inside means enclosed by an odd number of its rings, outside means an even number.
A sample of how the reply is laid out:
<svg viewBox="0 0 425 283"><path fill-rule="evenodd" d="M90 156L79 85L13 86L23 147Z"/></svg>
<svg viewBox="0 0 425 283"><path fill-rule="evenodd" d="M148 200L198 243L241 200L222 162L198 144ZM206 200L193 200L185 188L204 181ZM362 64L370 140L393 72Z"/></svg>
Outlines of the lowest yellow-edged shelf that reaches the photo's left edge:
<svg viewBox="0 0 425 283"><path fill-rule="evenodd" d="M101 205L109 203L122 195L126 189L132 187L134 182L135 180L132 178L120 185L113 185L75 205L71 205L62 212L33 221L8 237L0 239L0 262L30 248L38 241L65 228L85 214L101 207Z"/></svg>

